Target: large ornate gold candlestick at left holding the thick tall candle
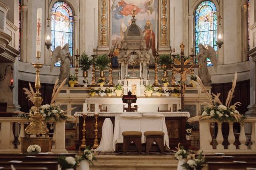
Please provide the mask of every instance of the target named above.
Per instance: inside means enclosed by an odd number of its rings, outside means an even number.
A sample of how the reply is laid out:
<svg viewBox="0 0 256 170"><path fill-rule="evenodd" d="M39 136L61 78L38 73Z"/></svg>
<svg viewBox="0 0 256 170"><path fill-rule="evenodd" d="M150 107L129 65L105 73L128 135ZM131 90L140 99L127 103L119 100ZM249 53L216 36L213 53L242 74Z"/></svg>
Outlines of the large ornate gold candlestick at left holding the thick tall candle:
<svg viewBox="0 0 256 170"><path fill-rule="evenodd" d="M35 80L35 88L36 88L36 93L34 94L34 101L33 104L36 107L36 110L33 115L30 116L30 124L26 127L25 132L27 134L34 134L34 135L40 135L40 134L48 134L49 130L47 129L45 123L44 123L44 117L40 114L39 108L41 107L42 104L42 97L41 93L39 92L39 89L41 88L41 83L40 83L40 68L43 67L44 64L39 63L39 58L41 57L41 52L37 51L36 52L36 58L37 58L37 63L32 64L34 68L36 68L36 80ZM48 135L47 135L48 136Z"/></svg>

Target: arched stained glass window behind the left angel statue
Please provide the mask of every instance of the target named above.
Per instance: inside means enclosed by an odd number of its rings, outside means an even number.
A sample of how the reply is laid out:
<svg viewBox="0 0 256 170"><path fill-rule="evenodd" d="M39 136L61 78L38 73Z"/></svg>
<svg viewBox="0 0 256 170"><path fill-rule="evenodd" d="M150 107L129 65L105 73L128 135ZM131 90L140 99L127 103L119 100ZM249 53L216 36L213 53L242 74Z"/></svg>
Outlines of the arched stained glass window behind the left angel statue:
<svg viewBox="0 0 256 170"><path fill-rule="evenodd" d="M69 44L73 55L73 12L66 2L56 2L52 7L52 51L60 45ZM55 63L60 66L60 61Z"/></svg>

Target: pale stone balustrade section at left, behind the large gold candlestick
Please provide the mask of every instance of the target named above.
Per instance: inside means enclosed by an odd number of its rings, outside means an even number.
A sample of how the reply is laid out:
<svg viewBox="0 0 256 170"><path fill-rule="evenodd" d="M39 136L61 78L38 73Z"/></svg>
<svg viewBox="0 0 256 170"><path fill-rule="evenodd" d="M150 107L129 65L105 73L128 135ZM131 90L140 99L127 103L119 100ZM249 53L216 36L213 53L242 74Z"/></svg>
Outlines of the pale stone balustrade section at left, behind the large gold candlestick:
<svg viewBox="0 0 256 170"><path fill-rule="evenodd" d="M46 123L54 124L54 135L52 141L52 152L54 153L67 153L65 149L65 122L54 122L53 119L46 121ZM13 124L18 125L20 128L18 135L18 148L15 149L13 145L14 133ZM25 136L24 125L29 123L28 119L21 117L0 117L0 153L21 153L21 137Z"/></svg>

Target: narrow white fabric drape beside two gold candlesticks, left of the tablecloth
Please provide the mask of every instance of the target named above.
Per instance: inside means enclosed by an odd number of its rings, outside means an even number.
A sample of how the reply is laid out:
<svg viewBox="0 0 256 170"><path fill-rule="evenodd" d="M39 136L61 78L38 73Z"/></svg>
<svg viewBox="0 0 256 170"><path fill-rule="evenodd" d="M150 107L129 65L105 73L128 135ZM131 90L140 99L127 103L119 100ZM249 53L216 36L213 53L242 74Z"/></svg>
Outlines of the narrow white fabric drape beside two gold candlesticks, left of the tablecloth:
<svg viewBox="0 0 256 170"><path fill-rule="evenodd" d="M102 125L102 137L100 145L96 149L100 152L110 152L114 151L113 149L113 124L110 118L106 118Z"/></svg>

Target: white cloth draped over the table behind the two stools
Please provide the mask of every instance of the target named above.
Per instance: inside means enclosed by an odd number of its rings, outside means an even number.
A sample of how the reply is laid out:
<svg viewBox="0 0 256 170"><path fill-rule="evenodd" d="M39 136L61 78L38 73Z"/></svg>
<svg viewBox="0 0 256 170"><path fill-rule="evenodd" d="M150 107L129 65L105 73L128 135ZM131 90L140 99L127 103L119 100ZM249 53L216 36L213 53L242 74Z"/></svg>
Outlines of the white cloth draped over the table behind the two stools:
<svg viewBox="0 0 256 170"><path fill-rule="evenodd" d="M143 133L145 131L163 131L164 144L169 148L169 137L164 117L115 117L113 148L116 149L116 143L123 143L122 132L124 131L141 131L142 143L145 143Z"/></svg>

